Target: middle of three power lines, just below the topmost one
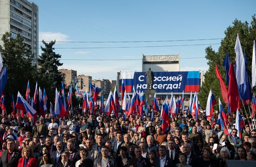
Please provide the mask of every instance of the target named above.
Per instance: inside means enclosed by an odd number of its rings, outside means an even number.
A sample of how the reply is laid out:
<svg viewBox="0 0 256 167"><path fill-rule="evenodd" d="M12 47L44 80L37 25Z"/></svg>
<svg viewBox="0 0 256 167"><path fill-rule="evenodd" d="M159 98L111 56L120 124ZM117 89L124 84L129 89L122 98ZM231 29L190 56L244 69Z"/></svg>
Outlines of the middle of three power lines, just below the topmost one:
<svg viewBox="0 0 256 167"><path fill-rule="evenodd" d="M186 46L203 46L203 45L220 45L220 43L190 44L190 45L141 46L141 47L186 47ZM141 47L55 47L55 49L109 49L109 48L141 48Z"/></svg>

